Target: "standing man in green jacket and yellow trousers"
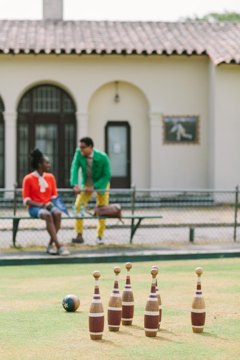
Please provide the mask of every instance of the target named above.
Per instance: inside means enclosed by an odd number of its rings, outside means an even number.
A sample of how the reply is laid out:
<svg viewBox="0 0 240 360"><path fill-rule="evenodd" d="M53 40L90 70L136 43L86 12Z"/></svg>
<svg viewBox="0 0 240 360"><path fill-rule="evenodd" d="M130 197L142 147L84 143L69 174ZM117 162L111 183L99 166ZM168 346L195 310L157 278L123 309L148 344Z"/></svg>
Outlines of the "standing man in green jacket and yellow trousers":
<svg viewBox="0 0 240 360"><path fill-rule="evenodd" d="M82 182L81 188L78 186L78 169L82 168ZM93 194L94 189L109 189L110 188L111 170L109 158L106 153L95 149L93 141L90 138L80 139L79 147L76 149L70 175L70 184L73 186L74 192L77 195L75 202L77 212L80 212L81 204L84 207L88 203ZM97 192L97 206L108 205L109 192ZM105 219L98 221L97 227L97 244L103 244L103 232L105 229ZM83 220L76 220L75 230L77 232L76 239L72 239L73 243L83 243Z"/></svg>

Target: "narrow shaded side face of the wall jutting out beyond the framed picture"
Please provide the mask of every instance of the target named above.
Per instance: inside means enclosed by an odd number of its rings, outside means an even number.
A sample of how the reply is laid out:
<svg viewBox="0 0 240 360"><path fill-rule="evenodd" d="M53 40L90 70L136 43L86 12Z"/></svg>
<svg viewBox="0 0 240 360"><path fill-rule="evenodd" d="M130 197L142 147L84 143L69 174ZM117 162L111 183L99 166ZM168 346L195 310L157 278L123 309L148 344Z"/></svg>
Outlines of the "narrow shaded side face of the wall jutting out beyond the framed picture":
<svg viewBox="0 0 240 360"><path fill-rule="evenodd" d="M209 95L208 95L208 187L215 188L215 86L216 67L209 60Z"/></svg>

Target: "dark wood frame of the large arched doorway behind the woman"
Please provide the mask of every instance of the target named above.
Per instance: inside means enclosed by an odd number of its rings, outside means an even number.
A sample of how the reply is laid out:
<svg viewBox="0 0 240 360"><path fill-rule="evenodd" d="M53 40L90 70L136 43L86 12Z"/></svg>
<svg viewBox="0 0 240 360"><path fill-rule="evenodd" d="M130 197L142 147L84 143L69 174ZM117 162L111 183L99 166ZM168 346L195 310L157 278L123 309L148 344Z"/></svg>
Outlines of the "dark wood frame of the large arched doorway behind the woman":
<svg viewBox="0 0 240 360"><path fill-rule="evenodd" d="M60 90L60 112L33 112L33 90L39 86L54 86ZM23 96L30 94L30 112L19 112L19 108L21 105L21 100L18 106L18 140L17 140L17 149L19 149L19 125L28 125L28 150L35 146L35 125L45 125L45 124L56 124L58 125L58 179L57 186L58 188L69 187L69 184L65 184L65 156L64 156L64 147L65 147L65 137L64 137L64 126L66 124L73 124L74 126L74 134L76 134L76 108L74 105L74 112L63 112L63 94L67 94L70 98L71 96L66 93L63 89L58 86L52 84L41 84L35 87L32 87L28 90ZM77 136L75 137L74 151L77 143ZM74 155L74 152L73 152ZM28 173L32 171L30 167L30 163L28 161ZM18 186L22 186L19 181L19 158L17 157L17 179Z"/></svg>

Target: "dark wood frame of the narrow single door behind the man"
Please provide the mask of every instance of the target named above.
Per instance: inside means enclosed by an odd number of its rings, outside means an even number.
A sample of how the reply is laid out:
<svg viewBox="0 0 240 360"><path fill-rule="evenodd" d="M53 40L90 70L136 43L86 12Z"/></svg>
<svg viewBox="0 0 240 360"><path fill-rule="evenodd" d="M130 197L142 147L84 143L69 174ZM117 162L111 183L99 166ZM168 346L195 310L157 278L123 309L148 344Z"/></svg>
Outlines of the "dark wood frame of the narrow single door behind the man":
<svg viewBox="0 0 240 360"><path fill-rule="evenodd" d="M126 188L130 188L131 185L131 126L128 121L108 121L105 125L105 152L108 153L108 127L109 126L126 126L127 127L127 176L126 176ZM117 178L116 178L117 179ZM120 178L119 178L120 179ZM121 185L121 180L117 180L117 185ZM115 188L121 188L122 186L114 186ZM112 187L112 185L111 185Z"/></svg>

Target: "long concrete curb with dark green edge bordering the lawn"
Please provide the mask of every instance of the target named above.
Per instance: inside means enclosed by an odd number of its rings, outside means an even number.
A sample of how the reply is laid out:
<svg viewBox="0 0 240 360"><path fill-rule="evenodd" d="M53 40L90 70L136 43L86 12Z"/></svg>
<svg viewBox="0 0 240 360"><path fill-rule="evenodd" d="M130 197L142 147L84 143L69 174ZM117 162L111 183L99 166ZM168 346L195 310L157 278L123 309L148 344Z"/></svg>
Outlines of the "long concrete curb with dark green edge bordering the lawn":
<svg viewBox="0 0 240 360"><path fill-rule="evenodd" d="M136 255L128 253L122 255L69 255L69 256L1 256L0 266L12 265L43 265L43 264L93 264L104 262L128 262L128 261L162 261L162 260L189 260L189 259L208 259L223 257L240 257L238 249L225 251L156 251L151 254Z"/></svg>

